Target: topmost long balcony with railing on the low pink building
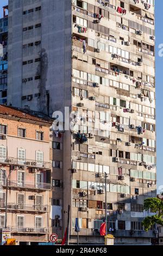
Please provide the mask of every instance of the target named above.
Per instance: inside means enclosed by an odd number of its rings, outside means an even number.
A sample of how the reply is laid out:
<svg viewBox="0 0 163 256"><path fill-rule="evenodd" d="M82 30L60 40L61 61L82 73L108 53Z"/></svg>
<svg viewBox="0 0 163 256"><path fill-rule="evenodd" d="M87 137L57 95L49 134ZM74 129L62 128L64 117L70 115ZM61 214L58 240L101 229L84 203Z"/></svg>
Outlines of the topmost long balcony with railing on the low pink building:
<svg viewBox="0 0 163 256"><path fill-rule="evenodd" d="M0 163L6 163L17 166L27 166L28 168L39 168L39 169L51 169L51 162L36 162L32 159L18 159L14 157L8 157L8 159L0 159Z"/></svg>

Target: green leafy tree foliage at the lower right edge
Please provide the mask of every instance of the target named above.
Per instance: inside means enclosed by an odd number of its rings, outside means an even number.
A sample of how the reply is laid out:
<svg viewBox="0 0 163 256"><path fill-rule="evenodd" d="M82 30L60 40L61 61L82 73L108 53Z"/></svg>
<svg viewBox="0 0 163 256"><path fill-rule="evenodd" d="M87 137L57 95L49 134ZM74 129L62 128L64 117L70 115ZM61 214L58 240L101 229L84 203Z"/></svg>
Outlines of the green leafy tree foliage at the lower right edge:
<svg viewBox="0 0 163 256"><path fill-rule="evenodd" d="M155 213L153 216L147 216L142 222L145 230L148 231L154 224L163 225L163 201L159 198L147 198L144 201L144 209L151 209Z"/></svg>

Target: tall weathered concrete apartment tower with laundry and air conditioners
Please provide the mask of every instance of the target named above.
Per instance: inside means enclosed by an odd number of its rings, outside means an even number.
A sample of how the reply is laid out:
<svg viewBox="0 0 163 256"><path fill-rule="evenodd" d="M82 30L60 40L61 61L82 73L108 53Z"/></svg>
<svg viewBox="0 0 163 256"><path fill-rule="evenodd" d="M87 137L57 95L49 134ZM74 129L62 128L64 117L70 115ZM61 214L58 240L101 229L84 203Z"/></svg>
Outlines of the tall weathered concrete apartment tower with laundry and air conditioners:
<svg viewBox="0 0 163 256"><path fill-rule="evenodd" d="M155 236L142 227L156 195L154 45L153 0L9 0L8 105L73 111L72 131L54 132L52 172L53 231L70 205L70 243L77 217L80 243L103 242L104 173L115 243Z"/></svg>

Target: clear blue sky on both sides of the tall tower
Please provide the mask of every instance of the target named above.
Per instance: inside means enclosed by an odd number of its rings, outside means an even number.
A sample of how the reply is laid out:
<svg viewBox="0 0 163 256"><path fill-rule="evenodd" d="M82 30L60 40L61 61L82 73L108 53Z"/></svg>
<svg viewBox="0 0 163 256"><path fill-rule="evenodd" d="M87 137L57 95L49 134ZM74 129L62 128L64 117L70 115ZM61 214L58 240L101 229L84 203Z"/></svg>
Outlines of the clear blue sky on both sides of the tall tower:
<svg viewBox="0 0 163 256"><path fill-rule="evenodd" d="M8 0L0 0L0 17L3 15L2 6ZM159 57L159 45L163 44L163 1L155 0L155 35L156 35L156 135L157 135L157 187L163 186L163 54ZM162 45L163 48L163 45ZM163 51L162 51L163 53ZM161 75L162 74L162 75Z"/></svg>

